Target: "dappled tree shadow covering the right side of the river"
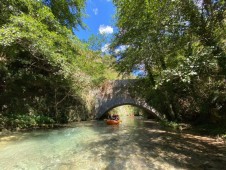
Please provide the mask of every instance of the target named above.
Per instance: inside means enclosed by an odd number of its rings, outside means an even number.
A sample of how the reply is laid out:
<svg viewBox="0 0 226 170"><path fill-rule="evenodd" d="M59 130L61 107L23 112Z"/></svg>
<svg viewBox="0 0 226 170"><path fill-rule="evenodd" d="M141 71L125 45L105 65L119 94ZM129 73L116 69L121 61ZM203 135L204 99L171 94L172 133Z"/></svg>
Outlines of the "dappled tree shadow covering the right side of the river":
<svg viewBox="0 0 226 170"><path fill-rule="evenodd" d="M162 128L139 120L130 128L105 127L112 136L93 142L97 159L106 169L224 169L226 150L215 139ZM95 129L95 128L94 128ZM104 133L100 135L104 135Z"/></svg>

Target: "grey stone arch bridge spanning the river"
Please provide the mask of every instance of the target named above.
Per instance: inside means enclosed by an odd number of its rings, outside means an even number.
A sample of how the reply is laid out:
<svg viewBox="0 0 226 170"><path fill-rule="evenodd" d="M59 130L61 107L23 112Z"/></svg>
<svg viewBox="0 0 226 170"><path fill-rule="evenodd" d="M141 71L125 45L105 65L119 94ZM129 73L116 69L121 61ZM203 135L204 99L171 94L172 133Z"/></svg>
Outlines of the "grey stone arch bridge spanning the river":
<svg viewBox="0 0 226 170"><path fill-rule="evenodd" d="M144 99L132 95L130 87L133 87L135 83L135 79L106 82L96 92L94 109L96 118L101 119L108 111L115 107L133 105L144 109L158 119L163 119L162 115L149 106Z"/></svg>

